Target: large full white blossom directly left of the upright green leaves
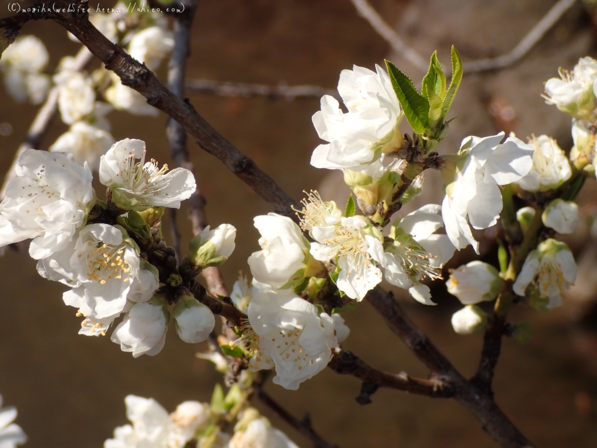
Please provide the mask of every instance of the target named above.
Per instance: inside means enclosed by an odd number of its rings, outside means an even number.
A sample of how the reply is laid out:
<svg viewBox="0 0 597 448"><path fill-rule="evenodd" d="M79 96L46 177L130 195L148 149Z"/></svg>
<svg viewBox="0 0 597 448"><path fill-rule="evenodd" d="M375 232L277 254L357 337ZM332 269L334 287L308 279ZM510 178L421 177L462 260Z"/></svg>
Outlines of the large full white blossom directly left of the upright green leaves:
<svg viewBox="0 0 597 448"><path fill-rule="evenodd" d="M313 115L313 125L322 140L313 151L316 168L361 170L381 153L402 148L398 128L402 110L389 76L376 65L377 73L353 66L342 70L338 92L348 109L344 113L334 97L321 99L321 111Z"/></svg>

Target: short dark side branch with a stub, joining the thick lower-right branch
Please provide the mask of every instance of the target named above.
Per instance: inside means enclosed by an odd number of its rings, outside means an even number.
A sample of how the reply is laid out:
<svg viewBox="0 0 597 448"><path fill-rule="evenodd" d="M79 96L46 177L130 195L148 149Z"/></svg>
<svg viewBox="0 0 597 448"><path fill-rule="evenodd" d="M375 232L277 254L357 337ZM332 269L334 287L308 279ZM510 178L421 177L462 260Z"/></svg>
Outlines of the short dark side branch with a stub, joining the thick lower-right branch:
<svg viewBox="0 0 597 448"><path fill-rule="evenodd" d="M363 382L361 395L356 398L356 401L361 404L371 403L370 396L377 387L398 389L411 394L427 395L427 397L454 397L453 387L442 379L411 378L405 372L398 374L381 372L368 366L347 350L336 352L328 367L336 373L352 375Z"/></svg>

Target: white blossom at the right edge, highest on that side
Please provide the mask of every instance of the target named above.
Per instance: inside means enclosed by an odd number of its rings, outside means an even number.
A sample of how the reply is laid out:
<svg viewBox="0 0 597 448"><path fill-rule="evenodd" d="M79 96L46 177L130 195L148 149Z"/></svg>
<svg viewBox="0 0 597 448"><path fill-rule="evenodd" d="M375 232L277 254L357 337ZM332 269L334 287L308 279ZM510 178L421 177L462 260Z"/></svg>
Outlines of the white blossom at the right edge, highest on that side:
<svg viewBox="0 0 597 448"><path fill-rule="evenodd" d="M594 121L594 83L597 79L597 61L583 57L572 72L559 69L561 79L551 78L545 83L544 98L547 104L556 107L574 118Z"/></svg>

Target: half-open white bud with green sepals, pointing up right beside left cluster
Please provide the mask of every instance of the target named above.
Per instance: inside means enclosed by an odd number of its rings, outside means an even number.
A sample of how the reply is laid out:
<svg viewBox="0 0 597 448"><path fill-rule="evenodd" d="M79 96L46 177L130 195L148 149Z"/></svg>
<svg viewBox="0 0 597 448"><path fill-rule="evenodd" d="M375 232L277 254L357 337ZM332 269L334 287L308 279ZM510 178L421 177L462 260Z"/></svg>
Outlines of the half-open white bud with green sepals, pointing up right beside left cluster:
<svg viewBox="0 0 597 448"><path fill-rule="evenodd" d="M190 240L189 261L201 269L220 266L235 248L236 228L230 224L221 224L210 230L207 226L203 232Z"/></svg>

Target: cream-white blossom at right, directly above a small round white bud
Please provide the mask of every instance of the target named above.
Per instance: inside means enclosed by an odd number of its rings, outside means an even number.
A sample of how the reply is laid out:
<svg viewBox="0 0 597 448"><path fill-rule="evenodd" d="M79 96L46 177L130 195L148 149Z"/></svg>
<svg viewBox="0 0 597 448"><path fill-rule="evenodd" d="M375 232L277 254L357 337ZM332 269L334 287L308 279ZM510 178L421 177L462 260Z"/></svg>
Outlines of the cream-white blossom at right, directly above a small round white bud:
<svg viewBox="0 0 597 448"><path fill-rule="evenodd" d="M547 191L558 188L570 179L570 163L555 140L547 136L538 136L529 140L529 145L535 148L533 168L516 182L522 189L533 192Z"/></svg>

